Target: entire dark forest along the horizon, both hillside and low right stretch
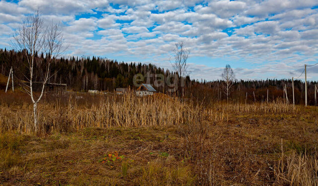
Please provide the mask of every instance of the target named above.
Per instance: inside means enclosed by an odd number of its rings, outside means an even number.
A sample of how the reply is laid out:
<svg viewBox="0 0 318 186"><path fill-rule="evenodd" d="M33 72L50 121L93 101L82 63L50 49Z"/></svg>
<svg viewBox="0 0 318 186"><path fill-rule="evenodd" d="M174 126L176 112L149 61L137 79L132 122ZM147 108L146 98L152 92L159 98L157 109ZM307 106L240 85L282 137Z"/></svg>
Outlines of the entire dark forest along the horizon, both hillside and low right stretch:
<svg viewBox="0 0 318 186"><path fill-rule="evenodd" d="M34 78L41 82L44 64L46 62L45 54L38 54ZM14 77L18 80L27 81L29 77L28 63L21 52L13 50L0 49L0 73L7 76L10 67L13 67ZM221 78L220 72L220 78ZM136 89L133 85L133 77L136 74L145 76L144 83L153 84L156 77L147 79L147 74L162 74L165 78L174 74L167 69L157 67L153 64L142 63L124 63L116 60L99 57L61 57L56 59L50 67L49 83L63 83L68 85L68 89L73 91L114 91L116 88ZM26 77L25 77L26 76ZM222 80L205 81L190 80L185 78L184 95L194 97L198 100L223 100L226 99L222 91ZM308 104L315 104L315 85L317 82L308 82ZM247 102L266 101L267 89L269 90L269 101L283 98L283 87L286 85L289 102L293 102L292 81L291 79L282 80L239 80L234 84L233 92L230 95L232 101L244 102L247 93ZM2 85L3 87L3 85ZM168 87L156 87L158 92L164 92ZM295 103L304 104L305 84L300 80L294 81ZM2 88L1 88L2 89ZM255 98L254 98L254 94Z"/></svg>

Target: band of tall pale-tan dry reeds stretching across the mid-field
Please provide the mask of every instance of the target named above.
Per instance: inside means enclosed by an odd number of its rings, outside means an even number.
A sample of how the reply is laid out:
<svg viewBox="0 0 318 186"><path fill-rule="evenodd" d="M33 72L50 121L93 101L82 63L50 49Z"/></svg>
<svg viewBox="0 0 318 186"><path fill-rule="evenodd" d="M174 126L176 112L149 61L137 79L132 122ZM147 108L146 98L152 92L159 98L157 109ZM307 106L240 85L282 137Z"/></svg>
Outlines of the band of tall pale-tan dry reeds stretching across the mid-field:
<svg viewBox="0 0 318 186"><path fill-rule="evenodd" d="M11 93L14 95L14 93ZM0 100L0 133L19 131L30 134L33 131L32 105L27 97L18 96ZM16 95L15 95L16 97ZM39 128L42 133L52 131L68 132L85 127L132 127L164 126L184 124L192 121L226 121L229 113L252 112L281 113L297 112L291 105L282 103L258 104L213 104L180 101L177 97L137 97L134 93L125 95L75 94L50 96L39 106Z"/></svg>

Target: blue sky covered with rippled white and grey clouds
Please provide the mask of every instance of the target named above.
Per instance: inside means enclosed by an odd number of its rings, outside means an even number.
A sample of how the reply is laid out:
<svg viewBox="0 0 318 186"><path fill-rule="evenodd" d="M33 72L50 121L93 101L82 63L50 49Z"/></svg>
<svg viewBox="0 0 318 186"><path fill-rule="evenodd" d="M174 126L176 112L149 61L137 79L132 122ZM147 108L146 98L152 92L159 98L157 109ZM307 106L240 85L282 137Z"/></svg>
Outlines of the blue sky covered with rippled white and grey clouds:
<svg viewBox="0 0 318 186"><path fill-rule="evenodd" d="M36 9L61 22L66 55L102 56L169 68L171 50L191 51L191 79L291 78L318 62L318 0L0 0L0 47ZM308 68L318 79L318 65Z"/></svg>

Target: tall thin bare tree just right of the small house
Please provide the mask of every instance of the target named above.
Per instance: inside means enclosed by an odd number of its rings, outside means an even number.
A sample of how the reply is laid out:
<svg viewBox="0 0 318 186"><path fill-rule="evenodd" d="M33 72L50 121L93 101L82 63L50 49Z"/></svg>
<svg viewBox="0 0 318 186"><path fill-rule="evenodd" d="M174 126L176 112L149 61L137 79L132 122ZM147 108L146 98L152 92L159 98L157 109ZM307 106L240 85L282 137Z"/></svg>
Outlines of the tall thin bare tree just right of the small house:
<svg viewBox="0 0 318 186"><path fill-rule="evenodd" d="M184 47L184 43L178 42L175 44L173 49L174 52L174 62L172 64L172 69L174 72L178 73L178 88L183 85L183 81L181 80L189 75L187 60L190 54L190 51ZM180 91L180 90L179 90Z"/></svg>

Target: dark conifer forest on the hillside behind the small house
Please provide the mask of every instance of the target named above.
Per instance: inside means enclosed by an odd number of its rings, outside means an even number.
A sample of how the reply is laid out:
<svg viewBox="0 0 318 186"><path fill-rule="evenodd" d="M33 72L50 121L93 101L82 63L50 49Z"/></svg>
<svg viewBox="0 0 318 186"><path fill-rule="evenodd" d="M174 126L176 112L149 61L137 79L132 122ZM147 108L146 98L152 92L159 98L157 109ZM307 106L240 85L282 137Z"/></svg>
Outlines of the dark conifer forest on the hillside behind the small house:
<svg viewBox="0 0 318 186"><path fill-rule="evenodd" d="M34 68L34 81L40 82L43 77L43 69L49 56L41 53L35 55L36 67ZM25 80L29 76L27 59L21 51L0 49L1 74L6 75L10 67L14 69L17 79ZM116 88L134 89L133 77L141 74L145 77L140 83L153 84L156 80L151 74L162 74L167 78L171 74L169 70L157 67L153 64L124 63L101 57L60 57L50 65L50 79L48 83L67 84L74 91L113 91ZM148 76L149 75L149 76ZM187 85L190 82L186 77ZM157 87L158 91L167 90L167 87Z"/></svg>

